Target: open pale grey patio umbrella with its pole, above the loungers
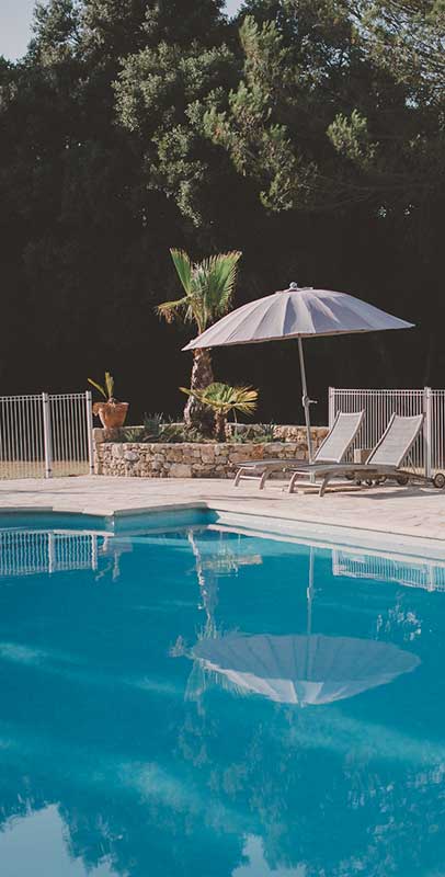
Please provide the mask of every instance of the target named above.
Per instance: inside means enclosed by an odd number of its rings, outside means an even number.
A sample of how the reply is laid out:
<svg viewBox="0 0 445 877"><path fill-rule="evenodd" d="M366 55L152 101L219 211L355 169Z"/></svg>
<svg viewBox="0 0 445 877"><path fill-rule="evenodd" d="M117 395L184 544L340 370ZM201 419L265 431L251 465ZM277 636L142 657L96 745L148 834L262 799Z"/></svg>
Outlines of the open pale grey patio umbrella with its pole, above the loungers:
<svg viewBox="0 0 445 877"><path fill-rule="evenodd" d="M184 350L298 339L301 401L305 410L308 455L311 460L309 409L313 400L309 398L307 390L303 339L412 327L413 323L392 317L352 295L329 289L313 289L311 286L299 288L296 283L292 283L287 289L255 301L248 301L247 305L230 311L191 341Z"/></svg>

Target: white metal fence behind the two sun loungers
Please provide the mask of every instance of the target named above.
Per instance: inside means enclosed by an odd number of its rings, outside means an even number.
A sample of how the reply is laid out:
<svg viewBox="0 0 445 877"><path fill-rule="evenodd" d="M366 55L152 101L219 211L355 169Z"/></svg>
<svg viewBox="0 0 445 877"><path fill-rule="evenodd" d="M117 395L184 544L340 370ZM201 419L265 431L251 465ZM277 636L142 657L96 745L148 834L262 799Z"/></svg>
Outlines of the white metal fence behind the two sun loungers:
<svg viewBox="0 0 445 877"><path fill-rule="evenodd" d="M329 425L338 411L365 410L363 428L350 452L372 448L388 425L391 414L423 413L423 432L410 451L410 465L431 476L445 468L445 390L358 390L329 388Z"/></svg>

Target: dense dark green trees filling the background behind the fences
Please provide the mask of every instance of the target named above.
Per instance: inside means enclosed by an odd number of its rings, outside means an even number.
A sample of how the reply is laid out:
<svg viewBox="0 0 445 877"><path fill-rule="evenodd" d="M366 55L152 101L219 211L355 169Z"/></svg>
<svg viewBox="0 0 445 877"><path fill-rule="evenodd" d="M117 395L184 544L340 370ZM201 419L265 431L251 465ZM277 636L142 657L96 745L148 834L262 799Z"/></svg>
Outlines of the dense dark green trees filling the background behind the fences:
<svg viewBox="0 0 445 877"><path fill-rule="evenodd" d="M135 417L180 410L187 335L155 314L170 247L242 250L236 304L295 280L418 323L312 342L311 395L443 386L442 0L222 8L49 0L0 59L2 392L111 368ZM219 352L215 375L290 420L297 371L287 343Z"/></svg>

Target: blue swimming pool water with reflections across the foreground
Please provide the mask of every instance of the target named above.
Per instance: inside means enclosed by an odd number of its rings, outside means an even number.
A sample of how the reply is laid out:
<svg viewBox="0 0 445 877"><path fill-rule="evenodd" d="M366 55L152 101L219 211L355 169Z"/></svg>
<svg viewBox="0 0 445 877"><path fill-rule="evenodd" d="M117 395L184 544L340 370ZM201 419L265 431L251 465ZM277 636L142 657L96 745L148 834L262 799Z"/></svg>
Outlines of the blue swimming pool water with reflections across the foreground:
<svg viewBox="0 0 445 877"><path fill-rule="evenodd" d="M445 873L441 563L202 523L0 548L1 877Z"/></svg>

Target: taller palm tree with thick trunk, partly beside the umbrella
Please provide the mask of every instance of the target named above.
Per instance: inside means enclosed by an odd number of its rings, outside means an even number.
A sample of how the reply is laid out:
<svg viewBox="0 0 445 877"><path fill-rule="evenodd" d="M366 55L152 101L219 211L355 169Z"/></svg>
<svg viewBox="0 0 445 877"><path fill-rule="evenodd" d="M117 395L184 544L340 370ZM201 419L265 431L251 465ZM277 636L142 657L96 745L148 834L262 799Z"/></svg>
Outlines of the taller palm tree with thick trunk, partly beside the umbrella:
<svg viewBox="0 0 445 877"><path fill-rule="evenodd" d="M192 262L183 250L170 252L185 295L175 301L158 305L157 312L167 322L175 319L193 322L197 334L201 334L229 310L241 253L233 250L210 255L202 262ZM205 389L213 379L210 351L194 350L191 389ZM204 432L212 426L209 409L194 396L190 396L185 406L184 421L187 426L197 426Z"/></svg>

